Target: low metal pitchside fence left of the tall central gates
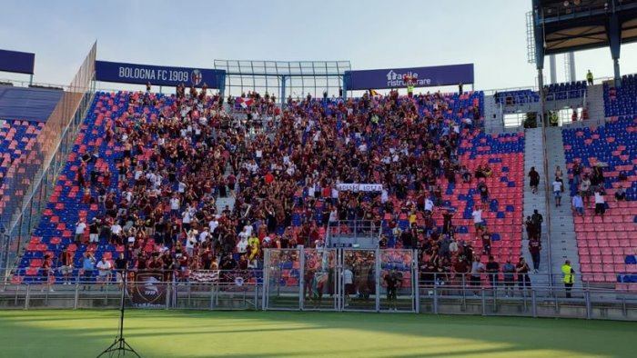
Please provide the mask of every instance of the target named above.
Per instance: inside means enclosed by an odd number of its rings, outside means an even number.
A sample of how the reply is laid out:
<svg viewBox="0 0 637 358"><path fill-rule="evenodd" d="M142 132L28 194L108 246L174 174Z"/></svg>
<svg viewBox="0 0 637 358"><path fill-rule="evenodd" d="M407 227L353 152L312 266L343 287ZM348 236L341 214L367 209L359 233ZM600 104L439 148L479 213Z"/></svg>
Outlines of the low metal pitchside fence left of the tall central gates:
<svg viewBox="0 0 637 358"><path fill-rule="evenodd" d="M68 281L51 279L0 286L1 309L118 308L122 289L125 304L133 308L256 310L261 307L262 284L249 277L260 270L195 271L154 270L110 271L86 276L76 274ZM246 277L246 279L243 279Z"/></svg>

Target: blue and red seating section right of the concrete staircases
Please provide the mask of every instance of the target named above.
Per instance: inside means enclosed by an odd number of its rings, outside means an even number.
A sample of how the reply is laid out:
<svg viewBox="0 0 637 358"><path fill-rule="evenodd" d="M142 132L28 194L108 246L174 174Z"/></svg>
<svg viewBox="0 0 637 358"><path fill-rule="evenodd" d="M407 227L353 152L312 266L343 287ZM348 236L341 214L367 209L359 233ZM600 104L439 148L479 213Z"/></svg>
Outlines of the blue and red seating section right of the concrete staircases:
<svg viewBox="0 0 637 358"><path fill-rule="evenodd" d="M637 252L637 240L632 235L637 229L635 122L633 116L612 117L599 127L562 131L571 196L581 189L580 180L573 177L575 163L581 165L582 178L590 176L593 187L601 186L606 194L605 214L595 215L591 200L583 216L574 215L582 279L617 283L618 289L631 291L637 289L637 265L631 260ZM625 190L625 200L617 201L614 194L620 186Z"/></svg>

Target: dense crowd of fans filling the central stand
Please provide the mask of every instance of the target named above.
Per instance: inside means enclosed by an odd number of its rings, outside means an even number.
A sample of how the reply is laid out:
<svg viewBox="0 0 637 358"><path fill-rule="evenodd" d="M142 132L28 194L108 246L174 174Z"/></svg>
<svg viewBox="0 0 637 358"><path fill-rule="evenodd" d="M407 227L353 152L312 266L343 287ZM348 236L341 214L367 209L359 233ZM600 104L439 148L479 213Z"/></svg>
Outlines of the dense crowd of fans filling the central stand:
<svg viewBox="0 0 637 358"><path fill-rule="evenodd" d="M489 202L489 165L471 173L457 155L461 138L480 131L480 102L469 94L456 104L440 93L347 101L308 94L289 98L283 111L268 94L224 104L206 88L187 94L183 85L171 97L127 95L126 113L102 124L104 140L121 148L117 173L95 165L97 149L83 154L76 172L83 202L102 209L76 223L76 244L89 252L97 244L126 247L120 268L176 272L177 280L193 270L246 271L261 267L264 248L319 248L330 222L367 220L389 227L381 248L418 249L425 281L444 273L440 280L477 283L480 273L499 270L492 258L486 269L480 263L491 254L480 204L471 234L481 253L457 240L454 208L442 206L444 187L457 180L475 184ZM339 191L340 183L384 189ZM234 208L217 208L227 196ZM409 227L399 226L401 215ZM528 273L528 265L517 273Z"/></svg>

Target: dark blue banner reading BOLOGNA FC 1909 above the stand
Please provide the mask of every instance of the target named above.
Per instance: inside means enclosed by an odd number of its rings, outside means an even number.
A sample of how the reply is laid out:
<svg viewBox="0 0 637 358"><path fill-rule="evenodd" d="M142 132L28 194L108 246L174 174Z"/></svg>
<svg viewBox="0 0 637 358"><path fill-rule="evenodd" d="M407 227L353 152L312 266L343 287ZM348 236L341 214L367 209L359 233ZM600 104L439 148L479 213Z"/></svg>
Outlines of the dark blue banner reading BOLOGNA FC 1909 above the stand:
<svg viewBox="0 0 637 358"><path fill-rule="evenodd" d="M96 61L96 80L120 84L168 85L184 84L208 88L219 88L226 75L224 70L197 69L189 67L168 67L157 65L121 64Z"/></svg>

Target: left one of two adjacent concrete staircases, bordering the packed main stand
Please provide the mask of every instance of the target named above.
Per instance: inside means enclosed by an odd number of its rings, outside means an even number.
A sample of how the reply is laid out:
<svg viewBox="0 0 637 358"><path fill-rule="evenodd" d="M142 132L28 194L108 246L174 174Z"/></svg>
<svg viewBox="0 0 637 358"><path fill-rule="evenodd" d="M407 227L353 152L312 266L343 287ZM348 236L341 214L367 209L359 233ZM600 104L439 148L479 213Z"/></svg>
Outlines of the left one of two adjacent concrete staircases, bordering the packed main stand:
<svg viewBox="0 0 637 358"><path fill-rule="evenodd" d="M562 149L563 154L563 149ZM540 257L540 270L538 273L531 271L531 284L533 286L548 286L549 280L549 244L546 240L547 232L547 207L546 207L546 191L544 187L544 164L543 164L543 152L542 152L542 134L541 128L530 128L526 130L524 138L524 220L527 216L533 214L533 210L538 212L544 217L544 223L541 225L541 257ZM531 187L529 186L529 177L527 176L531 171L531 167L534 166L535 170L540 174L540 185L538 186L538 193L532 194ZM572 221L571 221L572 223ZM529 264L532 269L531 254L529 254L529 237L527 237L526 229L521 228L522 231L522 256L524 260Z"/></svg>

